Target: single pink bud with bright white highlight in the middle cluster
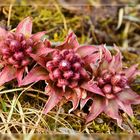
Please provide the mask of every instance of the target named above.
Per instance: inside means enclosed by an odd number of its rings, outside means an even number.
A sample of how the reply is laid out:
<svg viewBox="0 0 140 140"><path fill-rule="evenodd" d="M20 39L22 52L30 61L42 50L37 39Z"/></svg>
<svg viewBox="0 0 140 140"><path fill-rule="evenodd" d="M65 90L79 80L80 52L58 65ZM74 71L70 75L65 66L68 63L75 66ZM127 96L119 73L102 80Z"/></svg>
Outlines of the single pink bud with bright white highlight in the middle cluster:
<svg viewBox="0 0 140 140"><path fill-rule="evenodd" d="M67 71L69 70L71 67L69 61L67 60L62 60L60 63L59 63L59 68L63 71Z"/></svg>

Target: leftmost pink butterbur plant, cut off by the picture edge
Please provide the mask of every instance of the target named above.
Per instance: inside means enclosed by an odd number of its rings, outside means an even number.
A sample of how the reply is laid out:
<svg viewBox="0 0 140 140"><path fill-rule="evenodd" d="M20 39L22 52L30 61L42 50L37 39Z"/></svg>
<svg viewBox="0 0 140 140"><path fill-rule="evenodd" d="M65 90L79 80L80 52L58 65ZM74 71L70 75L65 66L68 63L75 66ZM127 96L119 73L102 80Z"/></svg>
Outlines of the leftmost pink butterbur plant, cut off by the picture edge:
<svg viewBox="0 0 140 140"><path fill-rule="evenodd" d="M30 17L22 20L15 32L0 28L0 85L17 79L20 84L25 69L32 63L31 53L40 54L43 49L41 37L45 32L32 33Z"/></svg>

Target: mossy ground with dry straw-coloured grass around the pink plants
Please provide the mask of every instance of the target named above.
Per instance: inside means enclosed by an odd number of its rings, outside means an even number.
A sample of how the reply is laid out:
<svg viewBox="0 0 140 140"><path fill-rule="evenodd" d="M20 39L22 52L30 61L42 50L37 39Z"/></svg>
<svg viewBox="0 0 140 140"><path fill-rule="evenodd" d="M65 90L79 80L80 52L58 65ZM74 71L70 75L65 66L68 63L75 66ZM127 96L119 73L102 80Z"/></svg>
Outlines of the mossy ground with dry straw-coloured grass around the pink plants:
<svg viewBox="0 0 140 140"><path fill-rule="evenodd" d="M96 2L82 0L77 5L73 1L27 1L2 2L0 6L0 26L7 30L27 16L33 19L33 32L47 31L48 38L55 43L64 40L69 29L73 30L81 44L115 43L123 53L123 65L140 64L140 5L137 1ZM140 65L139 65L140 68ZM71 103L59 105L47 115L42 109L47 101L43 82L24 88L6 84L0 87L0 132L5 133L138 133L140 131L140 106L133 106L134 117L123 116L121 130L106 115L100 115L90 124L84 124L84 111L68 114ZM14 88L13 88L14 87ZM140 94L140 77L132 85ZM61 139L61 138L60 138Z"/></svg>

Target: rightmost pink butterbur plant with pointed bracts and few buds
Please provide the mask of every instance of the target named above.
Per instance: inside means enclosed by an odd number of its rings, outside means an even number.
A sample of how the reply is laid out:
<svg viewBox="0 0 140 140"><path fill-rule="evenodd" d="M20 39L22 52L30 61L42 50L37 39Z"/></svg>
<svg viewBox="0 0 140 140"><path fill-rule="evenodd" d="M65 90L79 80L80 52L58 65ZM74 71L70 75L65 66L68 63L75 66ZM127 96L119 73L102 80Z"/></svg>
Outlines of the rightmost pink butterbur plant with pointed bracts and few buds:
<svg viewBox="0 0 140 140"><path fill-rule="evenodd" d="M137 65L130 68L122 68L122 55L117 47L117 54L112 56L110 60L102 59L99 67L94 69L94 80L83 84L83 88L93 93L93 103L90 107L89 114L86 118L87 122L95 119L100 113L104 112L109 117L116 119L121 127L122 117L120 110L126 112L129 116L133 116L132 104L140 103L140 96L135 93L130 84L137 74ZM97 86L92 91L92 88ZM99 93L96 94L96 93Z"/></svg>

